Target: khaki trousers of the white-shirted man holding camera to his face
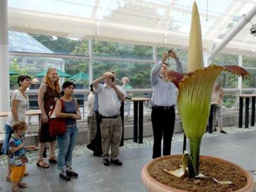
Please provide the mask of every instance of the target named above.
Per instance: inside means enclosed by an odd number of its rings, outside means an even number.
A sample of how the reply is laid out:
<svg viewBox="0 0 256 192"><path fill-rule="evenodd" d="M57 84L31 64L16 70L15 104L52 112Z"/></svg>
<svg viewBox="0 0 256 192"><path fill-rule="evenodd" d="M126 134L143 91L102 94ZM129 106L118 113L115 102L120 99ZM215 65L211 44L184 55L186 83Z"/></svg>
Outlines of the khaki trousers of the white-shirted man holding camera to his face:
<svg viewBox="0 0 256 192"><path fill-rule="evenodd" d="M109 148L111 147L110 159L115 160L119 154L119 145L122 138L122 119L102 118L100 123L102 140L102 157L109 159Z"/></svg>

